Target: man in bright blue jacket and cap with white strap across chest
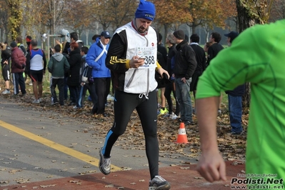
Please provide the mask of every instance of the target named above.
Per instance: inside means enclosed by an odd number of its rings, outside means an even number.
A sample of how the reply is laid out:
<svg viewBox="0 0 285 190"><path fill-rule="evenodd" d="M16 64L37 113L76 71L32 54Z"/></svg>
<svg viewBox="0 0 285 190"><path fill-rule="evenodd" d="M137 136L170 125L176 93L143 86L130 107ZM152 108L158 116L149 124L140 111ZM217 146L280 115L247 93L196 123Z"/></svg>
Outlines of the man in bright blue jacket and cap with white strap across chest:
<svg viewBox="0 0 285 190"><path fill-rule="evenodd" d="M100 38L97 38L95 43L90 46L86 56L86 64L92 67L93 88L95 88L97 95L97 104L94 104L91 112L103 116L107 92L110 89L109 81L111 81L110 70L105 65L110 38L108 31L102 31Z"/></svg>

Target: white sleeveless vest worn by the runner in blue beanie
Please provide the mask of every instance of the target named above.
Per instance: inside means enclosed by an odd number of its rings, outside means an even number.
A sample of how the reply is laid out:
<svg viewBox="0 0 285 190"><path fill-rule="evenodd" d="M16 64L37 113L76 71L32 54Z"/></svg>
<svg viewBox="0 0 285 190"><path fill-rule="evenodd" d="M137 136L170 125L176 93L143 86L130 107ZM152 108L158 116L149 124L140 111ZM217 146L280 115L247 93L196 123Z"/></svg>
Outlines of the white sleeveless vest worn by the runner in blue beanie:
<svg viewBox="0 0 285 190"><path fill-rule="evenodd" d="M157 60L157 36L156 31L149 26L148 34L141 36L132 26L131 22L121 26L115 32L126 30L127 46L126 59L133 56L146 57L144 66L139 69L131 68L126 71L124 91L132 94L144 94L148 96L157 86L154 78Z"/></svg>

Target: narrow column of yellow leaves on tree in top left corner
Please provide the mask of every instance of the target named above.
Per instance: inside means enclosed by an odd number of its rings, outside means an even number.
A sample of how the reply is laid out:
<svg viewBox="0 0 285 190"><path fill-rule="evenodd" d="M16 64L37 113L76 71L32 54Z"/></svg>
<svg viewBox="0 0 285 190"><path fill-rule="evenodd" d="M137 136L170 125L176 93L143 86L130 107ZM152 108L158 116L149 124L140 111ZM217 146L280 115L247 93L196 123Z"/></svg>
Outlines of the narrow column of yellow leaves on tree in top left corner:
<svg viewBox="0 0 285 190"><path fill-rule="evenodd" d="M11 39L14 41L21 34L21 22L23 10L21 9L22 0L8 0L9 7L9 26L11 29Z"/></svg>

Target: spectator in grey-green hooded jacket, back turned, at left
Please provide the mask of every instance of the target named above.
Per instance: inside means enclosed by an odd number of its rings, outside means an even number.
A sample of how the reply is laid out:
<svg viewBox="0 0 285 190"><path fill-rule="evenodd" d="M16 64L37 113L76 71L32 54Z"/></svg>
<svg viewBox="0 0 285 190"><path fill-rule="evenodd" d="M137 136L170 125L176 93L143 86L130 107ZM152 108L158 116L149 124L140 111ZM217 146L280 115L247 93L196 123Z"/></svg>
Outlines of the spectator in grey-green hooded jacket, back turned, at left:
<svg viewBox="0 0 285 190"><path fill-rule="evenodd" d="M55 53L49 59L48 69L51 73L51 105L60 104L64 106L64 74L69 71L69 61L60 53L61 46L54 46ZM56 85L59 89L59 101L56 97Z"/></svg>

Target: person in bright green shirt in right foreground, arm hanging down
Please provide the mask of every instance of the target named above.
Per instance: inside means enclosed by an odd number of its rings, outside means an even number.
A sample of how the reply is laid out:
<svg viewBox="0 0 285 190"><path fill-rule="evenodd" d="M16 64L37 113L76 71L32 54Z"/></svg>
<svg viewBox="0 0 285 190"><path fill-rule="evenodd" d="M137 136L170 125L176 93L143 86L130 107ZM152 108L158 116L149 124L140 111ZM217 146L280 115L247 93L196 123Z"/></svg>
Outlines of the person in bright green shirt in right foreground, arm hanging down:
<svg viewBox="0 0 285 190"><path fill-rule="evenodd" d="M226 180L226 166L216 141L220 93L250 82L245 176L248 182L257 180L247 186L285 188L284 39L285 19L252 26L233 41L231 48L221 51L199 78L196 105L202 154L197 171L206 180Z"/></svg>

